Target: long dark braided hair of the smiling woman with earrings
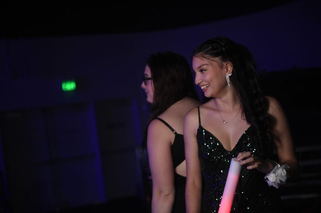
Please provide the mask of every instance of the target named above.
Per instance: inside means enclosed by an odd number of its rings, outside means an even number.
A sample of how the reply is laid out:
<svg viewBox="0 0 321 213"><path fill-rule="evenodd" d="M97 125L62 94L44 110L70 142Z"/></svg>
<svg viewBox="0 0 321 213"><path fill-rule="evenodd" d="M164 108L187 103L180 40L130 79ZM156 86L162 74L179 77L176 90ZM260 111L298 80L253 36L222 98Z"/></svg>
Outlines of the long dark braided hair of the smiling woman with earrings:
<svg viewBox="0 0 321 213"><path fill-rule="evenodd" d="M230 81L241 102L247 122L257 132L257 140L262 142L258 143L258 148L265 155L262 157L271 157L275 119L267 113L269 103L260 89L256 64L250 50L227 37L215 37L199 45L193 56L229 61L233 64Z"/></svg>

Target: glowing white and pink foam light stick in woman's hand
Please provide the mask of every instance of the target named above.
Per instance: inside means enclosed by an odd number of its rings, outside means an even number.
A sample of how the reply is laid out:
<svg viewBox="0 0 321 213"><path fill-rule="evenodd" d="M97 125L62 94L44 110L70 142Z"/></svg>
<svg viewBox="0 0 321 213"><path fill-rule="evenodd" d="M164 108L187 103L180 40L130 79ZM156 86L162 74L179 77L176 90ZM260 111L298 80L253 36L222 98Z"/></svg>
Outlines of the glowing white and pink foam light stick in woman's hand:
<svg viewBox="0 0 321 213"><path fill-rule="evenodd" d="M238 178L240 177L241 165L236 161L236 158L232 158L228 177L226 179L223 197L218 209L218 213L230 213L232 208L232 202L235 195Z"/></svg>

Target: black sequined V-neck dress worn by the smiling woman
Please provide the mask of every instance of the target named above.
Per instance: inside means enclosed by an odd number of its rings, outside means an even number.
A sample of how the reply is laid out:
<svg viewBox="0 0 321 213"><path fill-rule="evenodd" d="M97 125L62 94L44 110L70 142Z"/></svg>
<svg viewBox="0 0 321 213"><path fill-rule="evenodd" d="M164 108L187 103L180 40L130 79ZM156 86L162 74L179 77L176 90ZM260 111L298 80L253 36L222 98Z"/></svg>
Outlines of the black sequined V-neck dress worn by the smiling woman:
<svg viewBox="0 0 321 213"><path fill-rule="evenodd" d="M217 213L229 172L231 159L239 152L259 153L254 129L250 126L239 138L235 147L228 151L220 141L201 126L197 130L198 157L203 177L202 213ZM242 166L234 195L231 213L282 213L279 191L268 186L265 174Z"/></svg>

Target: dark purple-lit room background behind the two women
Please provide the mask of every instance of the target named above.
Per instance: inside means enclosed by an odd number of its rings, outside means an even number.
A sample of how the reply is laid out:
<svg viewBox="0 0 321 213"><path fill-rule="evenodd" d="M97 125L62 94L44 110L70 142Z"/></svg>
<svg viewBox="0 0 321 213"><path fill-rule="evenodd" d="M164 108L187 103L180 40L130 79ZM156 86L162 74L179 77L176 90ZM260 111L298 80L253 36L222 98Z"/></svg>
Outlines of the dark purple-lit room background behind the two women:
<svg viewBox="0 0 321 213"><path fill-rule="evenodd" d="M286 212L319 212L320 2L153 3L1 3L0 212L144 212L145 59L191 61L218 35L249 47L285 109L303 171L280 188Z"/></svg>

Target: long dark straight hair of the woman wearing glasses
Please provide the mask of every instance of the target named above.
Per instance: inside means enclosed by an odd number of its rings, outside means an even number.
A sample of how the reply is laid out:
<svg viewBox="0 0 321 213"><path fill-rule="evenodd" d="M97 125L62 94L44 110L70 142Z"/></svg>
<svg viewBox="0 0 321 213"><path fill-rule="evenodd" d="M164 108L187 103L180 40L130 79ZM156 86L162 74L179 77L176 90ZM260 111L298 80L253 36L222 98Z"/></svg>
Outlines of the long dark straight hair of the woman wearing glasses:
<svg viewBox="0 0 321 213"><path fill-rule="evenodd" d="M172 104L185 97L199 100L192 69L185 57L172 51L151 54L146 61L154 84L154 99L148 124ZM146 130L147 131L147 130ZM143 145L146 142L146 131Z"/></svg>

